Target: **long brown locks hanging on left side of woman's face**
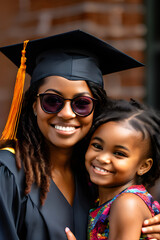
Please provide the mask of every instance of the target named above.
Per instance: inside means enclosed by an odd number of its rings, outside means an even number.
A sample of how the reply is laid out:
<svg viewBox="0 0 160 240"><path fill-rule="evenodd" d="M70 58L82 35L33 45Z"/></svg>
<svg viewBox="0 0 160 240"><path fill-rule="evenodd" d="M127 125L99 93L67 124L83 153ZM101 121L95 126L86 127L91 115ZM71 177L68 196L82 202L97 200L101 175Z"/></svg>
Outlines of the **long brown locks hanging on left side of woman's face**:
<svg viewBox="0 0 160 240"><path fill-rule="evenodd" d="M33 113L33 103L43 82L44 80L41 80L33 84L25 93L16 144L16 162L18 166L23 162L26 176L25 194L30 192L32 184L36 182L40 187L41 204L49 191L50 172L45 141Z"/></svg>

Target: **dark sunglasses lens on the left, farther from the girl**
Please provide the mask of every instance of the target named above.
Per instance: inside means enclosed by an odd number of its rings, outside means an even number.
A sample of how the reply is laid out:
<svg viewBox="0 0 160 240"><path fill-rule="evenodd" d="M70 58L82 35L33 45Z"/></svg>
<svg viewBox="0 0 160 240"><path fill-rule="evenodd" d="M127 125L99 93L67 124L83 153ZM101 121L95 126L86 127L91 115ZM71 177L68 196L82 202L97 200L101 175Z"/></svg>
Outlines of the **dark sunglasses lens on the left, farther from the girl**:
<svg viewBox="0 0 160 240"><path fill-rule="evenodd" d="M56 113L63 108L64 101L54 94L44 94L42 98L42 108L47 113Z"/></svg>

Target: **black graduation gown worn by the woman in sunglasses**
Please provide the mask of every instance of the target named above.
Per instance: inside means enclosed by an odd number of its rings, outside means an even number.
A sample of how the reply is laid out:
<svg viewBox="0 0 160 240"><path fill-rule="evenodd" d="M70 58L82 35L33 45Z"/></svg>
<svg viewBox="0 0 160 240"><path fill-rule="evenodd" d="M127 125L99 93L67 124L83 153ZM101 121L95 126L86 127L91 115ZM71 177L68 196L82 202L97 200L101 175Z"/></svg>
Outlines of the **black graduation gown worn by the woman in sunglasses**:
<svg viewBox="0 0 160 240"><path fill-rule="evenodd" d="M1 240L66 240L65 227L71 229L77 240L85 240L89 207L77 179L73 206L53 181L41 206L36 185L30 194L24 195L24 171L17 170L14 154L0 151Z"/></svg>

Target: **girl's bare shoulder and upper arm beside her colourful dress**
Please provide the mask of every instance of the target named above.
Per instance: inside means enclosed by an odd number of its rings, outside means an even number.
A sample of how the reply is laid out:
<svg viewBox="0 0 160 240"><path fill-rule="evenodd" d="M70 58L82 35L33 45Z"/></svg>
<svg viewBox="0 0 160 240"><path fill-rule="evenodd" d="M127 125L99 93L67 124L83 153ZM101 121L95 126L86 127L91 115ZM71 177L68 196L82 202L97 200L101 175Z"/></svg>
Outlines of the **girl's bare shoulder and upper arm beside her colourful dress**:
<svg viewBox="0 0 160 240"><path fill-rule="evenodd" d="M127 239L139 239L143 221L150 217L148 206L138 195L123 191L110 209L111 239L126 239L126 236Z"/></svg>

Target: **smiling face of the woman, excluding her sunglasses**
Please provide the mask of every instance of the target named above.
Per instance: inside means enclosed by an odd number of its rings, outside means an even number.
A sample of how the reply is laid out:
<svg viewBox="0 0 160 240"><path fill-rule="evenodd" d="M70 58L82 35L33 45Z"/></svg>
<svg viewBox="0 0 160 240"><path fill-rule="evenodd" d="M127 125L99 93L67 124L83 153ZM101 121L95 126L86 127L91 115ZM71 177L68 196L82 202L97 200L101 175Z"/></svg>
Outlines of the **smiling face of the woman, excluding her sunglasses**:
<svg viewBox="0 0 160 240"><path fill-rule="evenodd" d="M71 81L59 76L45 79L38 93L57 94L63 98L72 99L77 96L93 97L85 81ZM33 104L37 115L37 124L47 142L59 148L72 148L88 133L93 120L93 112L87 117L77 116L71 108L71 102L65 101L63 109L55 114L42 110L40 98Z"/></svg>

